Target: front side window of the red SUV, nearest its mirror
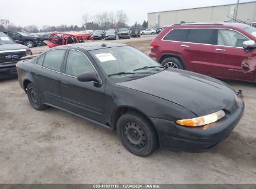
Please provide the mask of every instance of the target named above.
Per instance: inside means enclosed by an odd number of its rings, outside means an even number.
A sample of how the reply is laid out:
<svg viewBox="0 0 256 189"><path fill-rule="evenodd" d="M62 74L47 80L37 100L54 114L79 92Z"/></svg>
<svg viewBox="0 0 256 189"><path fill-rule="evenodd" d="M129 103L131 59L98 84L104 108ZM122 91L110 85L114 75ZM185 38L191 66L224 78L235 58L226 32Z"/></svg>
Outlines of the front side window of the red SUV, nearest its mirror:
<svg viewBox="0 0 256 189"><path fill-rule="evenodd" d="M243 42L247 39L244 35L234 30L219 29L218 30L218 45L230 47L242 47Z"/></svg>

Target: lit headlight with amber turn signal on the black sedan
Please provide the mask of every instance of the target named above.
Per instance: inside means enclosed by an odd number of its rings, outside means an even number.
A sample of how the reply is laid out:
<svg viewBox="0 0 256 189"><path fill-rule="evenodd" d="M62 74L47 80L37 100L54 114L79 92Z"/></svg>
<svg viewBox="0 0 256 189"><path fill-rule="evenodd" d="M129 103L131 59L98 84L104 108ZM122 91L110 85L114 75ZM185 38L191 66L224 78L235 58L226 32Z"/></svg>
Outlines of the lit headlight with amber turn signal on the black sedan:
<svg viewBox="0 0 256 189"><path fill-rule="evenodd" d="M219 119L222 119L225 116L225 112L223 110L217 111L216 113L212 113L206 116L201 116L192 119L182 119L176 121L177 124L181 126L187 127L199 127L210 124L212 122L216 122Z"/></svg>

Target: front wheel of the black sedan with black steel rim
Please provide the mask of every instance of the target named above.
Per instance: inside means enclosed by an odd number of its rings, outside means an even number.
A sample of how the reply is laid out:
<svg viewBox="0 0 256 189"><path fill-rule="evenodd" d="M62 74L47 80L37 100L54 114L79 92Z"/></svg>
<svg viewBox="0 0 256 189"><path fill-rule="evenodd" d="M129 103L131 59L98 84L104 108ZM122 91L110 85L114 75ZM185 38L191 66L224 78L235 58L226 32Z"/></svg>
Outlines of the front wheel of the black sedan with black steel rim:
<svg viewBox="0 0 256 189"><path fill-rule="evenodd" d="M122 144L132 154L145 157L158 148L158 136L151 122L135 112L123 114L116 131Z"/></svg>

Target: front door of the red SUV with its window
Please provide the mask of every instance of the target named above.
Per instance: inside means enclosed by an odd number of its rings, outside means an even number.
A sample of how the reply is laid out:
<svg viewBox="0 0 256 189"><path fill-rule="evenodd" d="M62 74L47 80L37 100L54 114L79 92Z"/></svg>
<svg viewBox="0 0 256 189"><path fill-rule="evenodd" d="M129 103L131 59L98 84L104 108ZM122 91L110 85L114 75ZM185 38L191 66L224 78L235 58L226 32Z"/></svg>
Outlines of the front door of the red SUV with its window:
<svg viewBox="0 0 256 189"><path fill-rule="evenodd" d="M242 67L244 60L252 56L252 52L245 53L242 48L245 35L231 29L218 29L216 32L216 45L214 45L214 62L212 75L236 80L255 81L256 72L246 73ZM244 70L245 69L245 70Z"/></svg>

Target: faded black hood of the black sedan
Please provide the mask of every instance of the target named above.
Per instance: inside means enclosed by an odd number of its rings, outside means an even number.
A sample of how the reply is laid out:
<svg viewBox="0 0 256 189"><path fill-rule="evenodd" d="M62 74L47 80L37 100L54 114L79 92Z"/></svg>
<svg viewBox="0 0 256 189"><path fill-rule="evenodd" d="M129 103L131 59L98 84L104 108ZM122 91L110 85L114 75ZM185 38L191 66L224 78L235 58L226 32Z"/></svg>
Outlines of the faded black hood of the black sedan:
<svg viewBox="0 0 256 189"><path fill-rule="evenodd" d="M222 81L184 70L168 69L116 85L166 99L197 116L224 109L235 99L234 90Z"/></svg>

